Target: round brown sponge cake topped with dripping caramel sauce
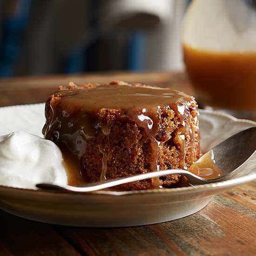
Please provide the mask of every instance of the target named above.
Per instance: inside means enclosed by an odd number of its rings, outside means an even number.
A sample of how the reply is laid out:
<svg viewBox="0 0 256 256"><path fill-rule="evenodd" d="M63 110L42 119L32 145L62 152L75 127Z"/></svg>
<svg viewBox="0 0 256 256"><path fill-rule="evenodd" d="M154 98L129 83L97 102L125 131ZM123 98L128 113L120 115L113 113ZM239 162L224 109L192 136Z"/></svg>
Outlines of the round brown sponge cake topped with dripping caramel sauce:
<svg viewBox="0 0 256 256"><path fill-rule="evenodd" d="M43 134L61 148L70 185L188 169L200 157L195 99L169 88L69 83L50 95L45 115ZM168 175L115 189L172 188L181 180Z"/></svg>

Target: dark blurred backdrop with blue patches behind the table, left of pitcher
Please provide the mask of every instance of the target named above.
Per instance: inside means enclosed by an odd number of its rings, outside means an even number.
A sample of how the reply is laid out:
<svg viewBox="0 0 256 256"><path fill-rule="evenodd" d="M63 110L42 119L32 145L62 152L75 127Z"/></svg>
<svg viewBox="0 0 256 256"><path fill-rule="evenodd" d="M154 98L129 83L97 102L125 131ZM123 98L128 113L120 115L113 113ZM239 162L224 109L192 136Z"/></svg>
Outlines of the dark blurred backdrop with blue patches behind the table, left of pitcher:
<svg viewBox="0 0 256 256"><path fill-rule="evenodd" d="M189 0L1 0L0 77L180 70Z"/></svg>

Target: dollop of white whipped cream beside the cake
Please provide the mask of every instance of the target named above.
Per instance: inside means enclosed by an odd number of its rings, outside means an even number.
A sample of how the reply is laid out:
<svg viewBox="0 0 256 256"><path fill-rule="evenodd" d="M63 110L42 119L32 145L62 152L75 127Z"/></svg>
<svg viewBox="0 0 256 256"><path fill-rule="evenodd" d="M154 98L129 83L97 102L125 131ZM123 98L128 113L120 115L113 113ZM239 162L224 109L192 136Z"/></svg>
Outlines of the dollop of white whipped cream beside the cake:
<svg viewBox="0 0 256 256"><path fill-rule="evenodd" d="M42 182L67 184L60 148L25 132L0 136L0 185L36 189Z"/></svg>

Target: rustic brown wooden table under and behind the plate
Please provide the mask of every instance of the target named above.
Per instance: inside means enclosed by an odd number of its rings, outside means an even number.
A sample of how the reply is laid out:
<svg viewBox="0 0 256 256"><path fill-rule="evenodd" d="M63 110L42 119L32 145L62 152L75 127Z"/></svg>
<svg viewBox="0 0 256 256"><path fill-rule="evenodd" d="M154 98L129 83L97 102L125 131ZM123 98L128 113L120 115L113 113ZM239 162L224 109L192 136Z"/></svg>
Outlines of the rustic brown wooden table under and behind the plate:
<svg viewBox="0 0 256 256"><path fill-rule="evenodd" d="M0 80L0 106L44 102L68 81L123 80L192 94L184 74L100 73ZM216 195L201 211L133 228L80 228L29 221L0 210L0 255L256 255L256 181Z"/></svg>

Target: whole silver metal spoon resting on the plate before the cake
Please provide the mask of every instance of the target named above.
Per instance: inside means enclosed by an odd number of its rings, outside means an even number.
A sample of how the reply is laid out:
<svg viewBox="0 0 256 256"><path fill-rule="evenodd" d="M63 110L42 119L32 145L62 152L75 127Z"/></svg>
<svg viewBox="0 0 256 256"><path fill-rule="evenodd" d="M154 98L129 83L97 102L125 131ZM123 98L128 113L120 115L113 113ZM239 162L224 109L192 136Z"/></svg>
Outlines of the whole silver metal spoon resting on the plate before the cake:
<svg viewBox="0 0 256 256"><path fill-rule="evenodd" d="M110 187L114 187L117 185L125 184L128 182L135 182L146 180L154 177L160 177L165 175L172 174L181 174L185 175L190 184L200 185L212 182L220 182L229 177L231 173L235 172L239 167L241 167L245 162L249 160L249 158L256 151L256 127L252 127L242 132L239 132L225 141L222 141L216 147L209 150L206 154L204 154L200 161L204 158L209 158L209 154L214 155L215 165L220 170L222 170L223 175L221 177L215 179L204 179L199 177L189 171L177 169L177 170L162 170L156 172L150 172L146 174L139 174L134 176L128 176L118 179L109 180L106 182L95 182L95 183L87 183L83 187L73 187L73 186L59 186L50 183L39 183L36 184L36 187L39 189L47 189L47 190L68 190L74 192L91 192L101 189L107 189ZM197 161L199 162L199 160ZM197 164L195 162L195 165Z"/></svg>

